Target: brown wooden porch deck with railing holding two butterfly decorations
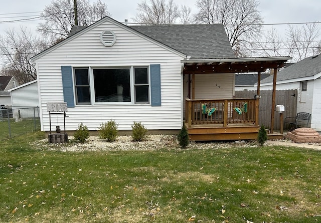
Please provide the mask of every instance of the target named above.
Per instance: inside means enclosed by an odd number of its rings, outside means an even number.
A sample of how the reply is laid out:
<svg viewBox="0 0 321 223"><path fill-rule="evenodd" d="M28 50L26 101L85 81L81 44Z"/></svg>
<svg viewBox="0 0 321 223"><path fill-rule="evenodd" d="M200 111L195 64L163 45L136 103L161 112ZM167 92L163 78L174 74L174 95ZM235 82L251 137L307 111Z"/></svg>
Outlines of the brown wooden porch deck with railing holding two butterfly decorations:
<svg viewBox="0 0 321 223"><path fill-rule="evenodd" d="M241 114L237 109L247 105ZM204 107L206 105L206 107ZM207 112L204 111L207 108ZM209 115L208 109L215 108ZM185 126L190 140L253 140L257 139L260 129L258 124L258 99L221 99L191 100L186 99ZM269 137L269 134L268 134ZM270 135L270 138L282 137L282 134Z"/></svg>

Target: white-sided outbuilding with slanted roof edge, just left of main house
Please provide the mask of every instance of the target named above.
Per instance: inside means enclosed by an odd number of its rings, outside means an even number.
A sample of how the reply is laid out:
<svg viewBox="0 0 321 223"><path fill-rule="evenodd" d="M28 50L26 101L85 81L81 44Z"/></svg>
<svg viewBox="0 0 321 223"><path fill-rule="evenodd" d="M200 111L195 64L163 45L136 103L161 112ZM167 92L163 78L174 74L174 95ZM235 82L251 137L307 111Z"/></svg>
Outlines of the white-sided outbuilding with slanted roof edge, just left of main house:
<svg viewBox="0 0 321 223"><path fill-rule="evenodd" d="M12 88L9 92L11 94L12 108L15 111L19 109L19 118L39 117L37 80Z"/></svg>

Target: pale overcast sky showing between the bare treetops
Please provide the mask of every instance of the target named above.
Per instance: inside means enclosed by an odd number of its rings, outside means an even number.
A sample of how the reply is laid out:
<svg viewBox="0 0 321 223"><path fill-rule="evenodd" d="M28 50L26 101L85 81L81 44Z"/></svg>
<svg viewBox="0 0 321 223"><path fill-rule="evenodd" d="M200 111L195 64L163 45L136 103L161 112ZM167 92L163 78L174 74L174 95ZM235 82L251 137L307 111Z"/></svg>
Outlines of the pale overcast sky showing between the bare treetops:
<svg viewBox="0 0 321 223"><path fill-rule="evenodd" d="M137 3L142 0L102 0L108 6L111 17L118 22L132 22L132 18L136 14ZM94 0L90 0L94 2ZM177 5L188 5L195 12L196 0L175 0ZM304 23L321 21L321 1L320 0L260 0L259 10L264 18L265 24L270 23ZM3 23L3 21L12 21L16 19L25 19L17 16L29 15L37 16L39 13L18 14L27 12L40 12L43 11L45 6L49 5L51 0L11 0L6 1L0 7L0 34L3 35L4 31L9 28L19 29L20 26L27 27L28 29L36 32L36 27L40 20ZM4 15L12 14L15 15ZM17 17L17 18L8 18ZM267 27L267 26L265 26ZM273 26L282 30L282 26ZM284 29L283 29L284 30Z"/></svg>

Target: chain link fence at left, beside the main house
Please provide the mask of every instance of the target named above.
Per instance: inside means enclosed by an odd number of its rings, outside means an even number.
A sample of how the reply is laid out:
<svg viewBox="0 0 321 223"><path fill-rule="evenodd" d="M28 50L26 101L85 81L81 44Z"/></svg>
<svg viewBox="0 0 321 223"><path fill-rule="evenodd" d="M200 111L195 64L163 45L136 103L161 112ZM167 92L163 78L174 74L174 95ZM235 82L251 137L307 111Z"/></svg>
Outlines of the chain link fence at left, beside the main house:
<svg viewBox="0 0 321 223"><path fill-rule="evenodd" d="M0 108L0 140L40 130L39 107Z"/></svg>

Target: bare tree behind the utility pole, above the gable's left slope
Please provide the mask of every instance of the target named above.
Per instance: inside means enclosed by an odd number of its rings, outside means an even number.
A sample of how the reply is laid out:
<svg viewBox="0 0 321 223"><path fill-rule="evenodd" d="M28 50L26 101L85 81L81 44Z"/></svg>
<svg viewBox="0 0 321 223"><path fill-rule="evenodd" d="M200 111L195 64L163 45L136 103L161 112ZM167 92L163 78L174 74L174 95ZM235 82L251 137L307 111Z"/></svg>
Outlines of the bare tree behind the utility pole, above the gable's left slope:
<svg viewBox="0 0 321 223"><path fill-rule="evenodd" d="M110 16L107 5L101 0L90 5L88 0L77 1L78 25L88 26L105 16ZM73 0L53 0L45 7L41 14L45 22L38 25L38 31L44 37L57 38L68 37L70 29L75 25L74 1Z"/></svg>

